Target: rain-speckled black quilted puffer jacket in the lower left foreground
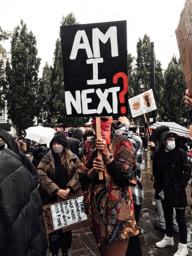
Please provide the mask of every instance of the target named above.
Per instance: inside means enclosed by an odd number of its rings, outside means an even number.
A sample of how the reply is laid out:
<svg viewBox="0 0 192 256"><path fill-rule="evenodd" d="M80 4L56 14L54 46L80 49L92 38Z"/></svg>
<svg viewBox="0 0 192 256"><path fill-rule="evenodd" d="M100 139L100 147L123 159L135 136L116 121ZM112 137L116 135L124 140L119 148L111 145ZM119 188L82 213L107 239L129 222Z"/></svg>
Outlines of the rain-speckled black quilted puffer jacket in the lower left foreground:
<svg viewBox="0 0 192 256"><path fill-rule="evenodd" d="M45 256L43 207L21 158L0 143L0 256Z"/></svg>

